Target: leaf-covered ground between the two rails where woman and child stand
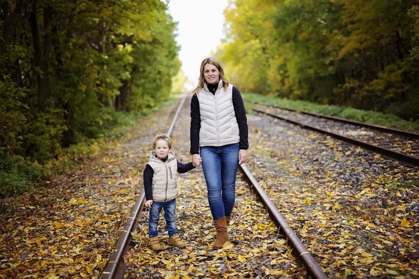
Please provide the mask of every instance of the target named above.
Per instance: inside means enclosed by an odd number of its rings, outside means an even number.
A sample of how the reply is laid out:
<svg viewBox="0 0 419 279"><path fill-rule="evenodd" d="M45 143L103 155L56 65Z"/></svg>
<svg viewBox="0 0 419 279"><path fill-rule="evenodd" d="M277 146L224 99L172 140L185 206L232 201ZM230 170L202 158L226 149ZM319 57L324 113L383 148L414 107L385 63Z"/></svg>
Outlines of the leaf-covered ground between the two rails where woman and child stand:
<svg viewBox="0 0 419 279"><path fill-rule="evenodd" d="M189 105L179 114L172 140L177 158L189 162ZM211 246L216 236L202 168L179 175L177 228L187 245L149 249L148 216L133 238L138 244L125 255L126 278L307 278L286 239L270 221L242 173L237 177L237 199L230 225L230 242L223 249ZM168 239L163 216L159 224L161 243Z"/></svg>

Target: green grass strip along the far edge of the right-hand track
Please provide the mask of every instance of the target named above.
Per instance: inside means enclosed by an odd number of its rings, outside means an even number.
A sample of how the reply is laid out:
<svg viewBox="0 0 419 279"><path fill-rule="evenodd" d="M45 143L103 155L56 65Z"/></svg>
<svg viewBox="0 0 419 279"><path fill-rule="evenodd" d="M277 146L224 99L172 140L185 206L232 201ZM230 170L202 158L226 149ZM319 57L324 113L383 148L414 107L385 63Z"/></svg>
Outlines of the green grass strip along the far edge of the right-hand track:
<svg viewBox="0 0 419 279"><path fill-rule="evenodd" d="M251 110L254 106L251 102L275 105L278 107L288 107L297 111L314 112L325 114L353 121L364 122L377 126L385 126L399 130L406 130L412 133L419 133L419 120L406 121L394 114L384 114L366 110L357 110L352 107L340 107L337 105L318 105L302 100L288 100L284 98L273 98L256 93L242 93L247 109Z"/></svg>

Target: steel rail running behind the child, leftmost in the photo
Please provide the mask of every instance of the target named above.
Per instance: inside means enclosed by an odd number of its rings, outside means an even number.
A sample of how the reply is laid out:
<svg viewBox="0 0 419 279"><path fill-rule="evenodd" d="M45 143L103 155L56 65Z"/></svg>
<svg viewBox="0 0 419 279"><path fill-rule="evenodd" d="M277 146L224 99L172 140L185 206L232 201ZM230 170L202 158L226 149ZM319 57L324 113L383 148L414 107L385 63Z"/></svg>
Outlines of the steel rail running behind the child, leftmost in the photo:
<svg viewBox="0 0 419 279"><path fill-rule="evenodd" d="M173 128L175 127L177 116L179 116L179 112L180 110L182 110L185 100L186 100L186 94L180 101L180 104L177 107L175 116L173 116L172 123L170 124L170 128L168 129L168 132L167 132L167 135L169 137L170 137L170 134L172 133ZM133 229L135 229L135 224L137 224L137 218L140 215L140 212L142 211L144 204L145 204L145 192L144 192L144 189L142 189L140 195L138 196L137 202L135 202L133 210L131 211L128 217L128 220L126 221L124 230L121 236L119 236L117 246L115 247L115 250L113 250L112 254L110 255L110 258L108 259L105 269L103 269L101 278L103 279L124 278L124 272L125 272L124 262L123 262L124 251L126 250L126 248L128 248L128 246L131 243L131 239L132 239L131 232L133 231Z"/></svg>

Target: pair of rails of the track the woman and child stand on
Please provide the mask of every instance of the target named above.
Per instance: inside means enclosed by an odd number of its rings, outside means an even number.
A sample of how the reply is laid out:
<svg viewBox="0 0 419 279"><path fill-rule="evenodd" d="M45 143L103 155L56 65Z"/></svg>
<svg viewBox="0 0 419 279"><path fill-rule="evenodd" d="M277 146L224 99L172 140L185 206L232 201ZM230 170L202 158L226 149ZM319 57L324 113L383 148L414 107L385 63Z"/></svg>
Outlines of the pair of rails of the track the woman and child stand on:
<svg viewBox="0 0 419 279"><path fill-rule="evenodd" d="M168 129L167 134L170 136L172 135L172 130L175 127L175 123L177 122L179 112L182 110L182 107L184 107L185 99L186 97L182 98L172 124ZM253 189L254 195L258 197L260 202L263 204L264 209L267 209L267 213L269 213L272 222L277 225L277 232L281 234L283 239L286 239L288 246L290 246L293 255L297 259L297 262L300 262L302 266L304 266L304 272L306 272L312 278L328 278L328 276L326 276L324 271L321 269L321 266L319 266L311 253L298 238L297 234L295 234L293 229L291 229L288 223L286 223L285 218L281 216L281 213L279 213L277 207L274 206L263 188L259 186L258 181L256 181L256 179L253 177L251 171L246 167L245 164L240 166L240 170L248 181L248 188ZM132 246L137 243L135 240L133 240L133 235L136 234L135 230L138 229L138 227L141 227L141 225L138 223L138 219L140 216L142 216L144 220L144 214L147 214L145 213L144 204L145 193L144 190L142 190L137 199L137 202L133 206L133 210L131 211L130 216L128 216L128 220L124 226L124 231L117 241L115 250L112 252L110 259L108 260L108 263L103 270L102 278L124 278L124 273L126 271L126 259L124 259L124 257L126 257L125 253L127 250L132 249ZM142 225L142 227L145 228L145 224ZM210 250L216 251L211 248ZM240 271L237 272L237 276L240 276Z"/></svg>

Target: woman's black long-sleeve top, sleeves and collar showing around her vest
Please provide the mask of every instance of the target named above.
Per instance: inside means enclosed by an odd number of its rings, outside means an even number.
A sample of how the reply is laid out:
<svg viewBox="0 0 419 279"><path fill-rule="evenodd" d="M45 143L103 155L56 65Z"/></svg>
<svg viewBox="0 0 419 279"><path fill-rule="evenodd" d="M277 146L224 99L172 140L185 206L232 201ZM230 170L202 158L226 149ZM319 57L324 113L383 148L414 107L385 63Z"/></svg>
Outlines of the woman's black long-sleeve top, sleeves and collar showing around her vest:
<svg viewBox="0 0 419 279"><path fill-rule="evenodd" d="M218 83L207 84L208 89L213 94L215 93ZM240 133L240 149L249 149L248 133L249 128L247 126L246 109L244 108L244 102L239 89L233 86L233 107L237 124L239 126ZM200 110L199 100L196 94L193 94L191 100L191 154L199 153L199 130L200 130Z"/></svg>

